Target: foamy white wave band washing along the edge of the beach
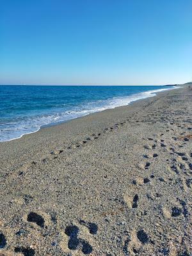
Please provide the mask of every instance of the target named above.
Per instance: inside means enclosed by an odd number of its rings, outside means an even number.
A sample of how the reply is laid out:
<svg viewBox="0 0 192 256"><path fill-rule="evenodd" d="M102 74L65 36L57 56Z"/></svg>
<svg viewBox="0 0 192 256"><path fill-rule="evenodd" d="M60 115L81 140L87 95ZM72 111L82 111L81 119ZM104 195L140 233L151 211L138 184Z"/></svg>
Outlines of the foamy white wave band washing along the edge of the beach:
<svg viewBox="0 0 192 256"><path fill-rule="evenodd" d="M150 90L147 92L140 92L124 97L113 97L107 100L95 100L92 102L86 102L86 106L79 105L65 111L58 113L51 113L49 115L38 115L28 118L20 118L14 120L8 124L3 124L1 128L0 142L11 141L21 138L25 134L31 134L40 130L42 126L56 124L58 122L67 122L74 118L89 115L91 113L104 111L106 109L113 109L120 106L127 106L131 102L140 99L146 99L148 97L154 97L158 92L165 90L172 90L177 87L163 88L157 90Z"/></svg>

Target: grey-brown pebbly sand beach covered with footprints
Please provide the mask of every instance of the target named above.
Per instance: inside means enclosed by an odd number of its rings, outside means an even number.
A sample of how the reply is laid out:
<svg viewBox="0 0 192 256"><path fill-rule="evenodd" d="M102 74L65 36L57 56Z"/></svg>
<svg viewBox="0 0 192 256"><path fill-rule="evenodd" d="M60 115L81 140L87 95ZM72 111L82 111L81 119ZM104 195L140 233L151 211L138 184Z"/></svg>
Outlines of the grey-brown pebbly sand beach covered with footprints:
<svg viewBox="0 0 192 256"><path fill-rule="evenodd" d="M0 143L0 255L192 255L192 85Z"/></svg>

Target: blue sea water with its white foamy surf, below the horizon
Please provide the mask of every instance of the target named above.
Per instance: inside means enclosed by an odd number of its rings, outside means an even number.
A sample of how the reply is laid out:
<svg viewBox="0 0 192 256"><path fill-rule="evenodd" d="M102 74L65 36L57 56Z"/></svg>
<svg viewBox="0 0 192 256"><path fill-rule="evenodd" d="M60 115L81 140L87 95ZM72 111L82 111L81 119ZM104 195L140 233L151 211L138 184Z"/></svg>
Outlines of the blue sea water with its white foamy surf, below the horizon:
<svg viewBox="0 0 192 256"><path fill-rule="evenodd" d="M169 86L0 86L0 141L104 109L125 106Z"/></svg>

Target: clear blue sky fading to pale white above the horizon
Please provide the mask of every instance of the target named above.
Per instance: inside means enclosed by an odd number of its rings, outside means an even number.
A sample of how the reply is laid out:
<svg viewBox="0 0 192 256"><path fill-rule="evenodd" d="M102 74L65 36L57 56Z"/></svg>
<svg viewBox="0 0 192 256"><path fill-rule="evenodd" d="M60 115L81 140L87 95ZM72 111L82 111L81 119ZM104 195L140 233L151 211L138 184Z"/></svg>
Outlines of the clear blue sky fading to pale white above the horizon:
<svg viewBox="0 0 192 256"><path fill-rule="evenodd" d="M191 0L0 3L0 84L192 81Z"/></svg>

